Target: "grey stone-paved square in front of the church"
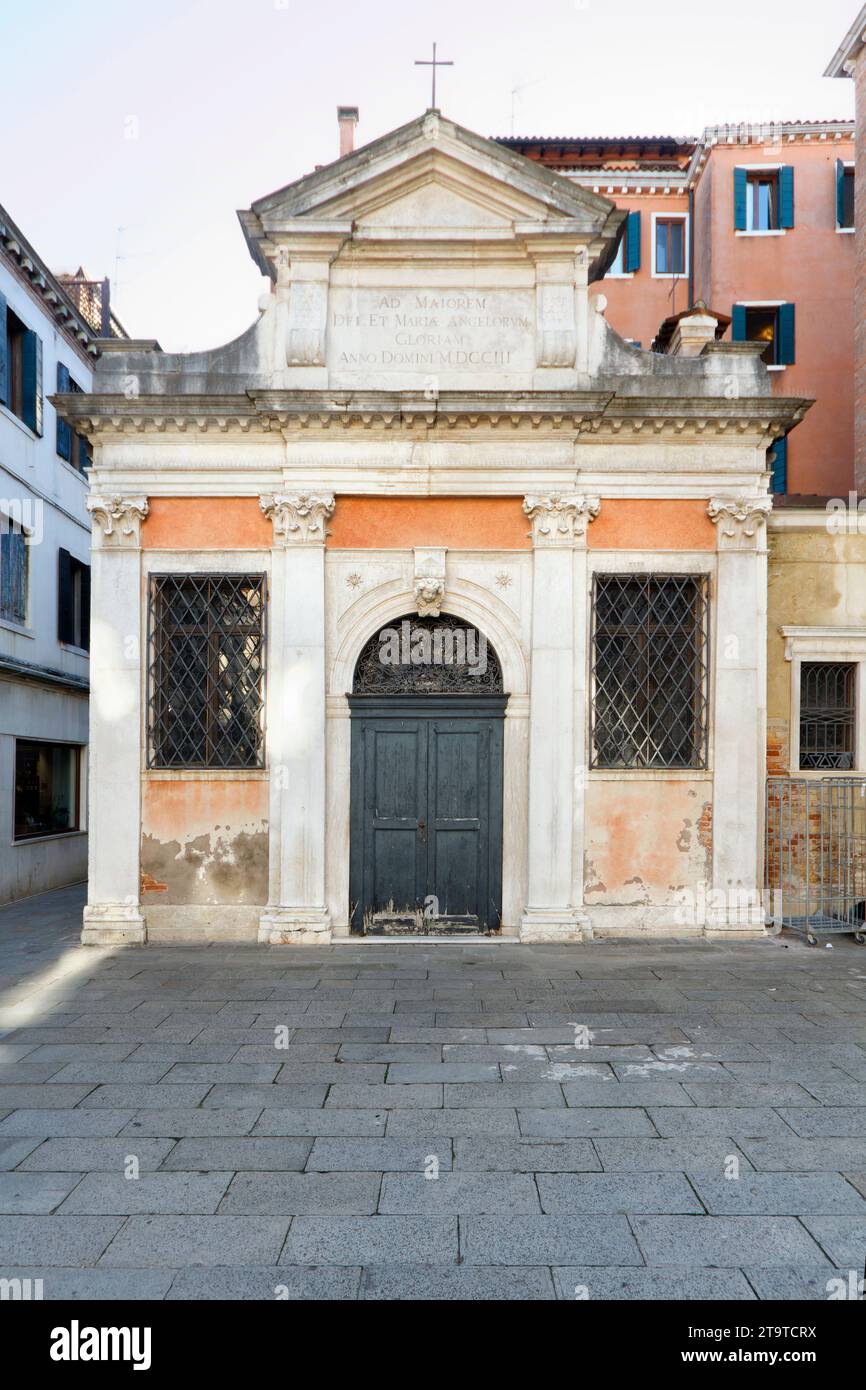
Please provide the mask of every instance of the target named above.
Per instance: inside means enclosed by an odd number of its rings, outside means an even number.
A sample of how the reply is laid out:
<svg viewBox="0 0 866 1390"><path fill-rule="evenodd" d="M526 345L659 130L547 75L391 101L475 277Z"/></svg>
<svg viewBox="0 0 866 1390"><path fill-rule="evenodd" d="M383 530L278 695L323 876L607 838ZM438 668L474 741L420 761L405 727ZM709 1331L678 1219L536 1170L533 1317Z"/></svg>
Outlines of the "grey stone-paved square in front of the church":
<svg viewBox="0 0 866 1390"><path fill-rule="evenodd" d="M853 942L108 951L79 902L0 910L0 1277L803 1300L863 1276Z"/></svg>

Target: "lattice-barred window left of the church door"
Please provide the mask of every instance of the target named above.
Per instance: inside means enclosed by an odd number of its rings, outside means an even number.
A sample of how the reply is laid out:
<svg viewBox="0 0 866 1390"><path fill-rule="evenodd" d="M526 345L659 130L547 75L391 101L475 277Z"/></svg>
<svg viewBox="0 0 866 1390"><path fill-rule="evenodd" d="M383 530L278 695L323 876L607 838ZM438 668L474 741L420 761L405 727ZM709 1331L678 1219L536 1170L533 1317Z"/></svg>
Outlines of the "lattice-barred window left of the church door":
<svg viewBox="0 0 866 1390"><path fill-rule="evenodd" d="M149 767L264 766L264 574L153 574Z"/></svg>

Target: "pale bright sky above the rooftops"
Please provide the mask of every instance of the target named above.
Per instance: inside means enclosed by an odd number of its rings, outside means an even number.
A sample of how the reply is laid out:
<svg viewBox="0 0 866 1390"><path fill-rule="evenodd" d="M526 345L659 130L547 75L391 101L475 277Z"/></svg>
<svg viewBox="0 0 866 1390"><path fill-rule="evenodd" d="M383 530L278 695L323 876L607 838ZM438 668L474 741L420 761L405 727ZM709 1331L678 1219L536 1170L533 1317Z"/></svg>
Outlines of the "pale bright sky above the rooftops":
<svg viewBox="0 0 866 1390"><path fill-rule="evenodd" d="M430 106L482 135L698 135L853 114L822 76L859 0L0 0L0 204L54 271L108 275L136 338L240 334L236 208Z"/></svg>

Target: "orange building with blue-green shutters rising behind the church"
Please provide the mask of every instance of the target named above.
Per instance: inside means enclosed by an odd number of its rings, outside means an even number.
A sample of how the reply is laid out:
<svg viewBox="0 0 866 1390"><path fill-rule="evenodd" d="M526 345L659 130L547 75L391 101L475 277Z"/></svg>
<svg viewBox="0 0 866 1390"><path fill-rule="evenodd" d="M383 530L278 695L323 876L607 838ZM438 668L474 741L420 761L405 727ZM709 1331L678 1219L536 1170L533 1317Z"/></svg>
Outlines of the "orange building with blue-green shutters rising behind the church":
<svg viewBox="0 0 866 1390"><path fill-rule="evenodd" d="M677 136L502 145L630 213L595 293L624 338L649 349L696 300L733 339L767 342L780 396L816 404L776 449L773 486L847 496L853 486L853 122L713 126Z"/></svg>

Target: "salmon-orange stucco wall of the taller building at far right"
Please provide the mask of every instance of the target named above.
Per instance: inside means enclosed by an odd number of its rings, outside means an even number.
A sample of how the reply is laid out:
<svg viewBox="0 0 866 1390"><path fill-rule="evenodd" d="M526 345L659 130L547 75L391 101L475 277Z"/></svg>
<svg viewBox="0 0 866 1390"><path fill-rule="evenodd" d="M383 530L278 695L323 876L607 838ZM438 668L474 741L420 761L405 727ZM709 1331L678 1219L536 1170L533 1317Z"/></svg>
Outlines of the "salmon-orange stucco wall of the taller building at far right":
<svg viewBox="0 0 866 1390"><path fill-rule="evenodd" d="M837 158L852 160L853 145L717 146L695 193L695 297L726 314L748 300L796 306L796 361L773 373L773 389L816 400L788 441L788 492L823 496L853 486L855 238L835 231ZM794 165L794 228L784 236L735 235L738 164Z"/></svg>

